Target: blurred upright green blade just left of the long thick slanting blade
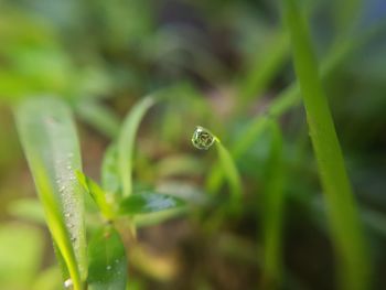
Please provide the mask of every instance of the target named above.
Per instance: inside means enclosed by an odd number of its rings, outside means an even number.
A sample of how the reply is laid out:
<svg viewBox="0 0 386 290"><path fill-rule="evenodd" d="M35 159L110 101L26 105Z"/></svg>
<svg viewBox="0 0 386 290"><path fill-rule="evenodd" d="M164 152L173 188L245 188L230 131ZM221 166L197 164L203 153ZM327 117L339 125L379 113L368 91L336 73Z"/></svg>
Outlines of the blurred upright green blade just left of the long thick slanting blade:
<svg viewBox="0 0 386 290"><path fill-rule="evenodd" d="M264 284L267 289L281 286L281 228L283 216L282 137L276 121L270 122L271 149L267 164L267 185L261 208L264 213Z"/></svg>

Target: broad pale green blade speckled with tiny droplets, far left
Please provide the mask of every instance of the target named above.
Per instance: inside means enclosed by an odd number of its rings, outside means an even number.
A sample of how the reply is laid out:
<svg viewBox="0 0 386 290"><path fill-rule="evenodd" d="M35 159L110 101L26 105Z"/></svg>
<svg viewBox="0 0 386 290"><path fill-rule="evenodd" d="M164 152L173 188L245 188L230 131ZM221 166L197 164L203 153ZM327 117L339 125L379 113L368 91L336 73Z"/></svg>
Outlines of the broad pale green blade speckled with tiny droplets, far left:
<svg viewBox="0 0 386 290"><path fill-rule="evenodd" d="M83 190L75 178L81 153L67 106L57 98L22 103L17 126L46 222L75 289L87 275Z"/></svg>

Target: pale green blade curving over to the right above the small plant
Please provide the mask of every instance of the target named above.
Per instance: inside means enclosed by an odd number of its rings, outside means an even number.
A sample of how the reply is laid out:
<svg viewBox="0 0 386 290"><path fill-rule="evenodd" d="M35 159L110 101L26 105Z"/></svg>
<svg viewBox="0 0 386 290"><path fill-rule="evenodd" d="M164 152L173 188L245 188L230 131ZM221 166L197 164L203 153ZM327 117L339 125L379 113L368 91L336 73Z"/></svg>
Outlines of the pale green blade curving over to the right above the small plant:
<svg viewBox="0 0 386 290"><path fill-rule="evenodd" d="M132 155L138 127L147 110L154 103L153 97L141 99L126 117L118 137L118 173L124 196L132 193Z"/></svg>

